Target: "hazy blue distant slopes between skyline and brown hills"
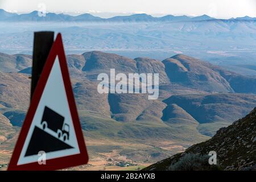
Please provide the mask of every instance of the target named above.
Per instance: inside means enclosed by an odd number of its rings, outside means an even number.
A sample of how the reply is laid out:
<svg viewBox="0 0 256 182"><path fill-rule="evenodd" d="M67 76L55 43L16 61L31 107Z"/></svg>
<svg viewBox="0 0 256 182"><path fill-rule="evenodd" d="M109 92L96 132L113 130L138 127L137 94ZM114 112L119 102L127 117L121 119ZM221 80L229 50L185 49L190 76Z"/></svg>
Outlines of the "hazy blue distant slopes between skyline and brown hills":
<svg viewBox="0 0 256 182"><path fill-rule="evenodd" d="M24 15L26 16L29 14ZM16 16L11 18L15 19L14 17ZM90 21L80 22L84 17ZM137 20L147 19L148 22L132 22L131 17L137 17ZM42 20L26 23L0 21L0 52L31 55L34 31L49 30L61 32L68 54L98 50L132 59L150 57L163 60L182 53L209 60L216 65L256 65L254 20L190 20L187 16L167 15L154 18L145 14L126 16L127 22L106 22L108 19L104 19L104 22L94 23L93 19L101 21L101 18L90 14L46 16L47 21L59 19L59 22L44 22L43 18L36 15L35 19ZM123 17L117 19L119 18ZM67 23L63 22L66 20ZM233 71L256 75L256 72L239 68L229 67Z"/></svg>

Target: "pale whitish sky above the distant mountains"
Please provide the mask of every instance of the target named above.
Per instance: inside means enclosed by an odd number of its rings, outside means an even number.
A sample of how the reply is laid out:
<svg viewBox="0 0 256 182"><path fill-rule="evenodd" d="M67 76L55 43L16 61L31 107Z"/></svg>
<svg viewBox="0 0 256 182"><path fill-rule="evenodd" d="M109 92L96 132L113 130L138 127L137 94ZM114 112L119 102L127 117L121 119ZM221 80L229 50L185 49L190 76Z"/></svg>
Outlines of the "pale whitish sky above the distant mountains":
<svg viewBox="0 0 256 182"><path fill-rule="evenodd" d="M40 3L46 5L47 12L91 13L104 18L131 13L256 17L256 0L0 0L0 9L25 13L39 10Z"/></svg>

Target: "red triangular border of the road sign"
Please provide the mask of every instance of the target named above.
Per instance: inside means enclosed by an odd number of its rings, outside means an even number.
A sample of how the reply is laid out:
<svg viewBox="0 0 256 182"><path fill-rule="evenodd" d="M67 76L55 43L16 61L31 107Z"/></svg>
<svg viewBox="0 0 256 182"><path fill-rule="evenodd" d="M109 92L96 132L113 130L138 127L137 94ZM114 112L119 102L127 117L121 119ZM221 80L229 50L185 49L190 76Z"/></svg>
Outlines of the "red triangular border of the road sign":
<svg viewBox="0 0 256 182"><path fill-rule="evenodd" d="M28 131L30 129L32 120L34 118L36 109L38 107L40 98L42 97L44 87L46 86L49 74L55 62L56 56L59 57L59 63L61 68L61 73L63 76L65 91L67 94L67 100L69 109L71 111L71 117L73 120L73 126L76 133L77 143L79 145L80 154L63 156L60 158L46 160L46 164L38 164L38 162L17 165L18 160L27 138ZM10 164L7 170L9 171L50 171L62 168L68 168L73 166L79 166L88 163L88 153L85 146L84 135L82 134L82 129L79 121L79 115L77 113L76 102L73 96L73 90L71 85L71 80L68 72L68 65L65 58L63 42L61 39L61 34L58 34L55 42L52 45L51 51L47 57L46 64L39 78L38 84L36 86L35 92L32 96L31 105L28 109L26 118L24 120L22 129L20 130L19 138L16 142L16 146L13 151L13 155L10 160Z"/></svg>

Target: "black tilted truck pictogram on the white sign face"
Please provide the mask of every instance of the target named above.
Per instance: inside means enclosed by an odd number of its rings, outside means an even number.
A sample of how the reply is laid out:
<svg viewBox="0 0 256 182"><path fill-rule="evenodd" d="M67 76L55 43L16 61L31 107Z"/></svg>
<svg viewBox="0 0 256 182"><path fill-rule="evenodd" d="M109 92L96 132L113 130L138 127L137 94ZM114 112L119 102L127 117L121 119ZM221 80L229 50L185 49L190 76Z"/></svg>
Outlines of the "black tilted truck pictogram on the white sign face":
<svg viewBox="0 0 256 182"><path fill-rule="evenodd" d="M62 138L65 141L69 139L69 125L64 123L64 119L62 115L45 106L41 125L43 130L48 128L57 133L58 138Z"/></svg>

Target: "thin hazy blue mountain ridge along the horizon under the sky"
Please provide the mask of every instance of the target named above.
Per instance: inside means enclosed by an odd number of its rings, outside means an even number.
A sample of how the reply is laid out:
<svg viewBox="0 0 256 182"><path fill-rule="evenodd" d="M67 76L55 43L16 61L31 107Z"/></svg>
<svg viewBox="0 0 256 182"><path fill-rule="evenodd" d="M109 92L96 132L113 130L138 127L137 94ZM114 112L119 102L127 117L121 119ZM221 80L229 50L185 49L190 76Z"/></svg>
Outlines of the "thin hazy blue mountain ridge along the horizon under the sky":
<svg viewBox="0 0 256 182"><path fill-rule="evenodd" d="M174 16L165 15L162 17L154 17L148 14L132 14L127 16L114 16L112 18L100 18L89 13L72 16L68 14L46 13L46 16L38 16L38 11L32 11L26 14L9 13L0 9L0 21L17 22L17 21L38 21L38 22L180 22L180 21L202 21L202 20L218 20L208 15L189 17L186 15ZM249 16L221 19L221 20L256 20Z"/></svg>

